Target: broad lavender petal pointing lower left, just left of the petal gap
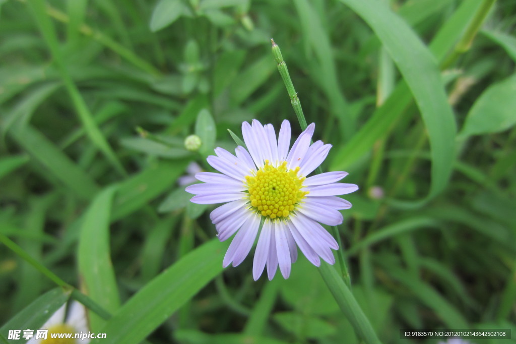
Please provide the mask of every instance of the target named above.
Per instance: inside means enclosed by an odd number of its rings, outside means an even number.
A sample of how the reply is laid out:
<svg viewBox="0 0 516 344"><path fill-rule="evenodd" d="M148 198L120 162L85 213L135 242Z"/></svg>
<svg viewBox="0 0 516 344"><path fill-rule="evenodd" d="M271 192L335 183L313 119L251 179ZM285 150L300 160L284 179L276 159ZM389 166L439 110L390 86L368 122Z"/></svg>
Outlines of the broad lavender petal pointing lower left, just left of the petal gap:
<svg viewBox="0 0 516 344"><path fill-rule="evenodd" d="M226 252L222 262L222 266L224 268L231 262L233 262L233 266L236 267L244 261L246 256L249 254L251 247L253 247L259 226L260 217L258 215L254 214L247 219L229 245L228 251Z"/></svg>

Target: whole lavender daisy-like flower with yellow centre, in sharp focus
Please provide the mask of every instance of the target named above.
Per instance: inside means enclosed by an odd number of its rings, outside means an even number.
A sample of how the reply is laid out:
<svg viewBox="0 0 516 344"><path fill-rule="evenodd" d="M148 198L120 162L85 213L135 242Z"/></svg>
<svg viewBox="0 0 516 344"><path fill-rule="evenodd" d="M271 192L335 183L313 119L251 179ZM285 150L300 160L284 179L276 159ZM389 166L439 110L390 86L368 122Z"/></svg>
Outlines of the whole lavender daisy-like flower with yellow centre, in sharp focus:
<svg viewBox="0 0 516 344"><path fill-rule="evenodd" d="M221 172L201 172L196 178L204 183L186 187L195 194L191 201L198 204L226 204L210 214L220 241L236 235L225 254L223 267L231 262L236 267L249 254L260 222L264 224L256 245L253 278L256 280L267 265L272 279L278 265L284 278L297 260L297 246L314 265L320 258L335 262L331 249L338 249L335 239L319 223L336 226L342 223L339 210L351 204L336 195L356 191L357 185L337 183L346 177L342 171L311 177L325 159L331 145L320 140L311 143L315 124L312 123L289 149L291 127L287 120L276 133L271 124L244 122L242 134L249 152L241 146L235 155L216 148L207 162ZM297 246L296 246L297 244Z"/></svg>

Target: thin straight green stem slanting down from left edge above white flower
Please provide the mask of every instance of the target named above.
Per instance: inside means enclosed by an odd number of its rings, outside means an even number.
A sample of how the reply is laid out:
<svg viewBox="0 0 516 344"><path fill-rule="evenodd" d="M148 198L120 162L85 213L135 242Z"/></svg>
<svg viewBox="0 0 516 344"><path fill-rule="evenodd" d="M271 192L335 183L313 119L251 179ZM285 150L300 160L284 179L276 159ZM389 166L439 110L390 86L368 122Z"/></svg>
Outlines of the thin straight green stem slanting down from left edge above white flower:
<svg viewBox="0 0 516 344"><path fill-rule="evenodd" d="M55 273L50 271L48 268L45 267L45 265L41 264L38 260L31 257L29 254L27 254L23 248L21 248L17 243L9 239L5 236L5 234L0 233L0 242L6 245L12 252L14 252L16 255L18 255L20 258L25 260L27 263L32 265L36 270L41 272L43 275L48 277L52 282L57 284L59 287L65 289L65 290L71 290L70 297L74 300L77 300L78 302L82 303L92 311L94 311L96 314L98 314L103 319L109 319L111 315L108 311L106 311L104 308L102 308L98 303L94 302L91 298L89 298L88 295L83 294L73 286L66 283L64 280L62 280L59 276L57 276Z"/></svg>

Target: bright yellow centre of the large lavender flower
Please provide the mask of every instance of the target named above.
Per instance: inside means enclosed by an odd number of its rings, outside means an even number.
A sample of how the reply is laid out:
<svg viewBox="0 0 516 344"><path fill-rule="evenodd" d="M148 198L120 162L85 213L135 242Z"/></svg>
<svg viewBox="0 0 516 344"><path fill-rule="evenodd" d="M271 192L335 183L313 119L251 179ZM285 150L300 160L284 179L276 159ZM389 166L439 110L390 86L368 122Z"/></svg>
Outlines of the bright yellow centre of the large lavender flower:
<svg viewBox="0 0 516 344"><path fill-rule="evenodd" d="M273 167L268 160L255 176L247 176L251 206L262 216L288 217L296 205L308 194L301 191L304 177L299 178L299 167L287 169L286 161Z"/></svg>

